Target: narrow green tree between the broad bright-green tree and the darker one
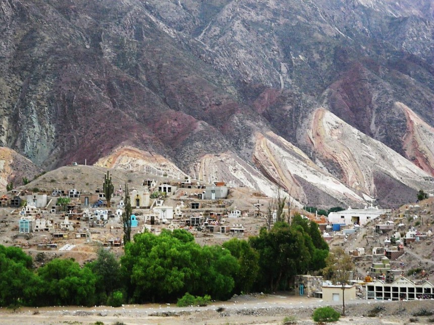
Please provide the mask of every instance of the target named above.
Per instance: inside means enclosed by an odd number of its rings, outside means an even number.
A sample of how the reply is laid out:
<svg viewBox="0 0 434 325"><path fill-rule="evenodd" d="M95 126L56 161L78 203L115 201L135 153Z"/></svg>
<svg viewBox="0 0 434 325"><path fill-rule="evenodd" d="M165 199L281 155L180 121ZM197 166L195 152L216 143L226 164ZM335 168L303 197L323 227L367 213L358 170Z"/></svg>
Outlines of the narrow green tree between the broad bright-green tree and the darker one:
<svg viewBox="0 0 434 325"><path fill-rule="evenodd" d="M232 238L225 242L223 247L228 249L237 258L240 265L235 278L235 292L250 292L259 273L258 252L247 241L239 240L238 238Z"/></svg>

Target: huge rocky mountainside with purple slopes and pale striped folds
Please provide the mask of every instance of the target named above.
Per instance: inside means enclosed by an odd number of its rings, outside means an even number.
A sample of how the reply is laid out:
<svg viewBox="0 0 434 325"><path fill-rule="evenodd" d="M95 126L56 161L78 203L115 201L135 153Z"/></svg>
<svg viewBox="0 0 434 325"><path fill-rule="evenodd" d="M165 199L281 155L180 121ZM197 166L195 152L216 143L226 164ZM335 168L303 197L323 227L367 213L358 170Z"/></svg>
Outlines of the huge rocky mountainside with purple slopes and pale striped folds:
<svg viewBox="0 0 434 325"><path fill-rule="evenodd" d="M396 206L434 187L433 33L431 0L0 0L0 145Z"/></svg>

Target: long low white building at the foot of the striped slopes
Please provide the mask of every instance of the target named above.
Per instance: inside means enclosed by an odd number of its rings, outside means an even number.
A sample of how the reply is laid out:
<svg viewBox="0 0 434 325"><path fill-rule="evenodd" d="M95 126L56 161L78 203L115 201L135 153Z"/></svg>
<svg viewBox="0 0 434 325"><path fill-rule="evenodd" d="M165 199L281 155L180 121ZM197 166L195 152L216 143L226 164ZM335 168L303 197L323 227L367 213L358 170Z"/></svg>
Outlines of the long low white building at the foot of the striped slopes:
<svg viewBox="0 0 434 325"><path fill-rule="evenodd" d="M365 207L364 209L351 209L329 213L329 222L333 224L360 225L363 226L370 220L390 213L391 210L378 209L377 207Z"/></svg>

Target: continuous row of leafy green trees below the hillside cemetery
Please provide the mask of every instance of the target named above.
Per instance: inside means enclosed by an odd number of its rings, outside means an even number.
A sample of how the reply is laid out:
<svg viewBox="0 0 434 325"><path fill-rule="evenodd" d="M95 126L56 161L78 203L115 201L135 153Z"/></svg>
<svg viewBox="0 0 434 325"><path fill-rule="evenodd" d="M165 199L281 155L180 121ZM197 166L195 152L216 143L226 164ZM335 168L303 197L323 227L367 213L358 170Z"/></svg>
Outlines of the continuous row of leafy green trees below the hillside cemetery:
<svg viewBox="0 0 434 325"><path fill-rule="evenodd" d="M186 230L137 234L118 260L100 249L81 267L55 258L33 269L31 256L0 245L0 306L119 306L126 301L175 302L187 293L225 300L234 293L288 289L296 274L325 266L328 245L313 222L294 216L248 241L200 246Z"/></svg>

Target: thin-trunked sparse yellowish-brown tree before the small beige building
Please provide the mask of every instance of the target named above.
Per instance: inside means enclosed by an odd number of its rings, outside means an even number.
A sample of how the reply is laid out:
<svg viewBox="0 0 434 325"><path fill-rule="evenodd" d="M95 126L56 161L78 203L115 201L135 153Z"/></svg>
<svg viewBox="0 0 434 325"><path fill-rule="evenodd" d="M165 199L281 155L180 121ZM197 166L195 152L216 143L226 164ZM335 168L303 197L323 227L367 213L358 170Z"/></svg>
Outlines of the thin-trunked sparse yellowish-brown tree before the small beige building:
<svg viewBox="0 0 434 325"><path fill-rule="evenodd" d="M349 281L350 272L354 270L354 263L341 247L335 247L330 251L325 260L324 273L330 274L334 284L339 284L342 289L342 314L345 316L345 288Z"/></svg>

